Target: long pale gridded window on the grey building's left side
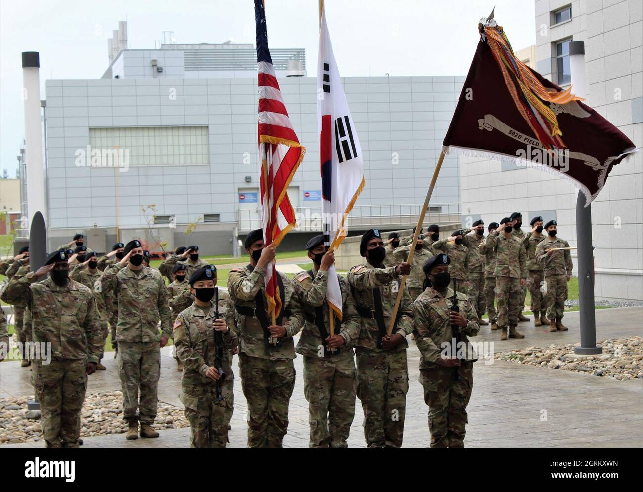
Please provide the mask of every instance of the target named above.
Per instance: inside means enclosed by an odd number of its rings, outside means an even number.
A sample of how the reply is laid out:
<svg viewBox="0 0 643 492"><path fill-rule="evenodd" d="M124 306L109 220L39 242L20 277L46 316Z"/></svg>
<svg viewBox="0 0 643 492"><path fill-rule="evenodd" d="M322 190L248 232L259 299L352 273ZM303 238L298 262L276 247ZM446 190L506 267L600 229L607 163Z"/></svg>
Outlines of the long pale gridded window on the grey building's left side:
<svg viewBox="0 0 643 492"><path fill-rule="evenodd" d="M89 145L118 148L128 166L210 164L208 127L89 128Z"/></svg>

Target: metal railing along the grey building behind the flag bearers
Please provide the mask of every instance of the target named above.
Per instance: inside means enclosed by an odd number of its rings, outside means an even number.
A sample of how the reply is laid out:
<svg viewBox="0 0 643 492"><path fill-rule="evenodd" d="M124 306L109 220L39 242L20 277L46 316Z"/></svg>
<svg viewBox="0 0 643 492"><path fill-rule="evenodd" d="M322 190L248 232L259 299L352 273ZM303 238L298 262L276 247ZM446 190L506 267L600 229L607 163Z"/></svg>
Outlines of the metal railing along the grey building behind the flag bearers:
<svg viewBox="0 0 643 492"><path fill-rule="evenodd" d="M347 218L348 229L370 227L408 229L417 224L423 204L361 205L353 207ZM462 221L462 204L459 202L429 204L424 224L444 224ZM321 207L296 207L296 231L316 232L323 230ZM261 227L261 209L237 211L239 233L248 233Z"/></svg>

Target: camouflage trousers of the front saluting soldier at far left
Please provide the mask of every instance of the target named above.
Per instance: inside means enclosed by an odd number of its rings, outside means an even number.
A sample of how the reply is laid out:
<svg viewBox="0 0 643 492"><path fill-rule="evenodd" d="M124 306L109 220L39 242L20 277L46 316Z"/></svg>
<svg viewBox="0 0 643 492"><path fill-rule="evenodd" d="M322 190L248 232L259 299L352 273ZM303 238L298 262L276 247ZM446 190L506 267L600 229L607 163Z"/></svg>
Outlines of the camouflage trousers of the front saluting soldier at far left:
<svg viewBox="0 0 643 492"><path fill-rule="evenodd" d="M78 447L80 409L85 401L87 361L34 361L35 394L40 401L42 437L48 448Z"/></svg>

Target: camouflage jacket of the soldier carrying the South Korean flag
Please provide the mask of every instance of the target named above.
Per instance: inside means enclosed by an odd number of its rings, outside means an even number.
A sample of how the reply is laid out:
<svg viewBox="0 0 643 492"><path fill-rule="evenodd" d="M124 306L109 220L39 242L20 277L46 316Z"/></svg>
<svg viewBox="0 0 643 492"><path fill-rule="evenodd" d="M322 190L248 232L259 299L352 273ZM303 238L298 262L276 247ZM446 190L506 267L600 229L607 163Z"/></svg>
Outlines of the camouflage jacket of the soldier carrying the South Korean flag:
<svg viewBox="0 0 643 492"><path fill-rule="evenodd" d="M320 354L321 347L324 346L320 329L315 319L317 308L321 308L323 324L328 335L331 335L330 308L326 301L329 272L316 270L313 266L312 274L314 276L312 279L308 272L297 274L293 281L294 292L296 292L303 304L306 320L295 351L302 355L317 356ZM341 289L342 321L340 324L338 318L335 317L335 333L339 334L345 342L345 345L340 350L342 352L352 351L353 344L359 338L359 315L355 309L355 301L352 294L350 294L349 285L341 275L338 275L338 278L340 279ZM324 350L323 355L327 354L329 352Z"/></svg>

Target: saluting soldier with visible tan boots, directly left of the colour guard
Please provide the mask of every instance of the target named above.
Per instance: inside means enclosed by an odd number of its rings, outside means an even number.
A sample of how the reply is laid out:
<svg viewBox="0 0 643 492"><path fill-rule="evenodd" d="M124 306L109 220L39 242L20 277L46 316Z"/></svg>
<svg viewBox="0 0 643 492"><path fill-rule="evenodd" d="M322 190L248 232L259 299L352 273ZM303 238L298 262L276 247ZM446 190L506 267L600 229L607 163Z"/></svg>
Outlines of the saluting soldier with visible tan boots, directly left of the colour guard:
<svg viewBox="0 0 643 492"><path fill-rule="evenodd" d="M143 267L143 248L138 239L127 243L123 254L121 261L105 270L101 282L102 290L118 292L117 363L123 420L128 425L126 438L138 439L139 420L141 436L158 437L152 423L158 403L161 347L172 336L167 288L158 270Z"/></svg>

